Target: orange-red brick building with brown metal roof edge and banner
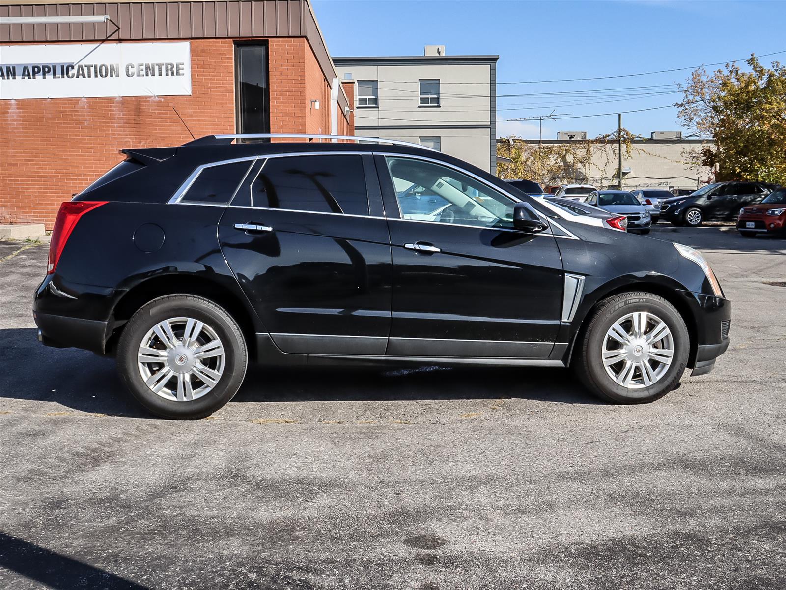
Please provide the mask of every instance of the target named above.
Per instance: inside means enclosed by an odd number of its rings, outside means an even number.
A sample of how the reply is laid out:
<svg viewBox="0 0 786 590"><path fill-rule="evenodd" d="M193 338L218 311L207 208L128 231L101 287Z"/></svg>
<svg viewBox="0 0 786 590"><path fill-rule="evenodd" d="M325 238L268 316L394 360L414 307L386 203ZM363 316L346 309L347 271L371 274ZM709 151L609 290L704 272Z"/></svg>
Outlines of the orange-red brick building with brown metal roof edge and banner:
<svg viewBox="0 0 786 590"><path fill-rule="evenodd" d="M0 6L0 223L46 223L122 148L354 135L308 0Z"/></svg>

